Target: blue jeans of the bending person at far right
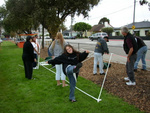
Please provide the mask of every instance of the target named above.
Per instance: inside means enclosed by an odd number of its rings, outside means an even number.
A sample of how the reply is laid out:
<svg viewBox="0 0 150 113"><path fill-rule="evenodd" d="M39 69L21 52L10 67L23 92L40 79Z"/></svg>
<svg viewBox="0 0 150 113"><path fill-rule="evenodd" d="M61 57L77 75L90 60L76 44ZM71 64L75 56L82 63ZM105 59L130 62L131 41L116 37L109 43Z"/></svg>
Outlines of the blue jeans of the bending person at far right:
<svg viewBox="0 0 150 113"><path fill-rule="evenodd" d="M142 60L142 69L146 70L146 61L145 61L146 53L147 53L147 46L143 46L138 50L137 59L134 64L134 69L137 69L138 63L141 59Z"/></svg>

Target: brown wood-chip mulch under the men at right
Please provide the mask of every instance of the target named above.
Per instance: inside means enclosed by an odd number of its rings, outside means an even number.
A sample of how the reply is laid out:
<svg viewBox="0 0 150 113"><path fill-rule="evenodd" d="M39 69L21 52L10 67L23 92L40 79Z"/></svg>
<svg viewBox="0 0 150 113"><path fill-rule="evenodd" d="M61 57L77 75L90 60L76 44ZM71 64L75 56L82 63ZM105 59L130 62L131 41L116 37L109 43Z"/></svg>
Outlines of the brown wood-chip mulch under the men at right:
<svg viewBox="0 0 150 113"><path fill-rule="evenodd" d="M104 79L104 75L93 75L93 58L84 62L80 76L100 86ZM150 112L150 72L138 69L138 72L135 73L136 86L127 86L124 77L126 77L125 65L111 63L104 89L123 98L129 104L135 105L141 111Z"/></svg>

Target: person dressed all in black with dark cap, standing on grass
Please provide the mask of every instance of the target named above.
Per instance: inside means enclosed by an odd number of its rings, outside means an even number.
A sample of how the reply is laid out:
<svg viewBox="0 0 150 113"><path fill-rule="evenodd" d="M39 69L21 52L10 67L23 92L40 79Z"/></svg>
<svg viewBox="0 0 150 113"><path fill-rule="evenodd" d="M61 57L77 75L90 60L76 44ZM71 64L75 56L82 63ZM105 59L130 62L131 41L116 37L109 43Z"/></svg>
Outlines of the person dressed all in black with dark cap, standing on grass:
<svg viewBox="0 0 150 113"><path fill-rule="evenodd" d="M31 44L32 37L27 36L26 42L23 46L22 60L24 63L25 77L32 79L33 62L34 62L34 48Z"/></svg>

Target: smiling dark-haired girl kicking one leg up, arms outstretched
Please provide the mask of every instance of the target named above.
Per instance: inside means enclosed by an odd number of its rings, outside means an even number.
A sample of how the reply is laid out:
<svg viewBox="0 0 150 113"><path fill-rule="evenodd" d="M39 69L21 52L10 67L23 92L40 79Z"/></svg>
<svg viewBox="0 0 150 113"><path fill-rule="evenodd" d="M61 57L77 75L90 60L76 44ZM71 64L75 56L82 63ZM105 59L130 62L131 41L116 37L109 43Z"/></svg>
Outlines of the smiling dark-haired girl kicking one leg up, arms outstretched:
<svg viewBox="0 0 150 113"><path fill-rule="evenodd" d="M79 69L82 67L82 61L86 59L89 51L84 51L80 53L76 51L71 45L66 45L64 48L64 53L53 60L49 60L47 63L63 64L63 72L69 78L70 82L70 95L69 100L71 102L76 102L75 100L75 86L76 86L76 77L78 77ZM74 76L76 74L76 76Z"/></svg>

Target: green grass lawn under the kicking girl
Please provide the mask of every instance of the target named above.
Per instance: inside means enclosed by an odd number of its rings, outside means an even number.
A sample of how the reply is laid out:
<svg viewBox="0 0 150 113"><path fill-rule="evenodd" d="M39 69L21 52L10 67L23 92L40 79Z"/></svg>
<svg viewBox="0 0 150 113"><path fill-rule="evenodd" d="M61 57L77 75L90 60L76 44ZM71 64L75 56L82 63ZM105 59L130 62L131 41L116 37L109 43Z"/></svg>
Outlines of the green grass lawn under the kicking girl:
<svg viewBox="0 0 150 113"><path fill-rule="evenodd" d="M76 89L77 102L71 103L69 87L56 86L55 74L40 66L33 71L36 79L28 80L20 65L23 66L22 48L3 41L0 46L0 113L141 113L106 91L98 103ZM98 98L100 87L93 82L79 77L77 87Z"/></svg>

